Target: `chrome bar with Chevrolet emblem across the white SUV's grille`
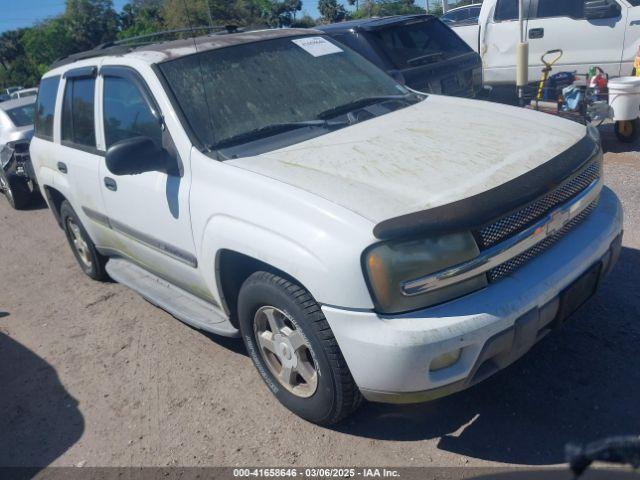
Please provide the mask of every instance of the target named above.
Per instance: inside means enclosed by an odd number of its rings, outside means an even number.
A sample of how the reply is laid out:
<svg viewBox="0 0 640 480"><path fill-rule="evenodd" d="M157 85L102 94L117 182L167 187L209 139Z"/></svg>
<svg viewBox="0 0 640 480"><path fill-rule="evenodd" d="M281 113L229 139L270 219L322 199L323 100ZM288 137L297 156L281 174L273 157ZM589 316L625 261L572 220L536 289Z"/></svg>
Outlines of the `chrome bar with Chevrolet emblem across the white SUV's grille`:
<svg viewBox="0 0 640 480"><path fill-rule="evenodd" d="M521 253L560 231L567 223L593 203L602 190L601 178L594 180L569 202L549 212L531 227L515 234L503 242L484 250L476 258L446 270L424 277L403 282L400 287L407 297L438 290L454 283L486 273L502 263L517 257Z"/></svg>

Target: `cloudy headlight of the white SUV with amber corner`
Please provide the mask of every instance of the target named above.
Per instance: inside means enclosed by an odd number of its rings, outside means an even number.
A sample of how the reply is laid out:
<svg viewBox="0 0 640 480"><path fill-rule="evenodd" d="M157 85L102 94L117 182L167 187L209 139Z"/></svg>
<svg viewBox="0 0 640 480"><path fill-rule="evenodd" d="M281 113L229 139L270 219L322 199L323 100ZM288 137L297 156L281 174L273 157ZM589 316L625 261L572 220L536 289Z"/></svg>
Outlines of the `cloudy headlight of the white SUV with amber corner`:
<svg viewBox="0 0 640 480"><path fill-rule="evenodd" d="M417 295L402 290L404 282L453 267L478 254L478 246L468 232L373 245L364 252L363 263L377 310L381 313L418 310L485 287L487 278L482 274Z"/></svg>

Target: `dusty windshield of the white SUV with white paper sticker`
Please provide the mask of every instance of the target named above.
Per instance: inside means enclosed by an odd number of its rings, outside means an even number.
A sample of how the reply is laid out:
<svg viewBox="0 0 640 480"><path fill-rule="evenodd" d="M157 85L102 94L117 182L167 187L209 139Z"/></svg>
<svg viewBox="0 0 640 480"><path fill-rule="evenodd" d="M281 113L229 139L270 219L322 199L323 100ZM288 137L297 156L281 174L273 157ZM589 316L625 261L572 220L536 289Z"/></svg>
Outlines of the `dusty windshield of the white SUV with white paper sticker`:
<svg viewBox="0 0 640 480"><path fill-rule="evenodd" d="M160 68L196 136L211 148L284 132L295 143L304 140L301 130L317 136L348 124L328 120L349 105L409 94L359 54L320 36L210 50Z"/></svg>

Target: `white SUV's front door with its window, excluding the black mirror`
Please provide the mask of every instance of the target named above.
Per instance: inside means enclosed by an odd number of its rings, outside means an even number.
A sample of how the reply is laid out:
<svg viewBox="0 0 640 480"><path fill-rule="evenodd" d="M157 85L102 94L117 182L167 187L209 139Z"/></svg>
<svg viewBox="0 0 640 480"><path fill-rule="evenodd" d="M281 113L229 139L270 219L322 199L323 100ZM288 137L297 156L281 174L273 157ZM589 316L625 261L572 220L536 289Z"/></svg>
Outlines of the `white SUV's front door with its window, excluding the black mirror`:
<svg viewBox="0 0 640 480"><path fill-rule="evenodd" d="M157 103L139 74L124 67L103 67L100 74L107 154L122 140L144 136L166 147L181 164L180 173L114 175L103 162L100 181L114 231L111 248L172 283L197 290L189 214L189 153L176 151Z"/></svg>

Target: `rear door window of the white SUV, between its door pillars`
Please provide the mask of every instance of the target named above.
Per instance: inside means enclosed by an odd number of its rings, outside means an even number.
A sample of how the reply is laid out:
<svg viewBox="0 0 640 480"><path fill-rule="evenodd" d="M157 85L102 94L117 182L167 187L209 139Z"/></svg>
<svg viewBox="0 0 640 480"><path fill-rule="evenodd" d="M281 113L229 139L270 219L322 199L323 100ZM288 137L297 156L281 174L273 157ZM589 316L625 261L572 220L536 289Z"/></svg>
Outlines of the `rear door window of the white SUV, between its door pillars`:
<svg viewBox="0 0 640 480"><path fill-rule="evenodd" d="M67 79L62 103L62 140L85 147L96 146L93 99L96 79Z"/></svg>

